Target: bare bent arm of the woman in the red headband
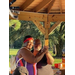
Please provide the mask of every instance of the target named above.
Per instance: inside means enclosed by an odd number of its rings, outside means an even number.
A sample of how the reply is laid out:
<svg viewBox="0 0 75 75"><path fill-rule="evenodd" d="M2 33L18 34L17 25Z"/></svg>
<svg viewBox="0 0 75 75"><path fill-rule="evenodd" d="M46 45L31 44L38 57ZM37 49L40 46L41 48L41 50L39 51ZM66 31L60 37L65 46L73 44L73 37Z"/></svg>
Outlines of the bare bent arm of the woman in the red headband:
<svg viewBox="0 0 75 75"><path fill-rule="evenodd" d="M47 50L40 53L40 55L34 56L31 51L23 48L21 49L20 54L24 58L24 60L27 61L28 63L36 63L36 62L39 62L43 58L46 52Z"/></svg>

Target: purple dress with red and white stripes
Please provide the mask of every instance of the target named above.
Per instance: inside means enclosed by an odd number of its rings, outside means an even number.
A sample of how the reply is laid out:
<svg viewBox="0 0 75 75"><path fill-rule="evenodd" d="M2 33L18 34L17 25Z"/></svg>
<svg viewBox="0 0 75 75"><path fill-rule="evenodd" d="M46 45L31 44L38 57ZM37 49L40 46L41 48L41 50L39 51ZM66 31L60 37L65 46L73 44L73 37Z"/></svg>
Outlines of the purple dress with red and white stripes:
<svg viewBox="0 0 75 75"><path fill-rule="evenodd" d="M19 58L16 57L16 63L18 60L19 60ZM18 61L17 67L18 66L25 66L27 68L27 70L29 71L29 75L34 75L33 64L26 62L23 58ZM35 68L36 68L36 65L35 65ZM35 74L35 75L37 75L37 74Z"/></svg>

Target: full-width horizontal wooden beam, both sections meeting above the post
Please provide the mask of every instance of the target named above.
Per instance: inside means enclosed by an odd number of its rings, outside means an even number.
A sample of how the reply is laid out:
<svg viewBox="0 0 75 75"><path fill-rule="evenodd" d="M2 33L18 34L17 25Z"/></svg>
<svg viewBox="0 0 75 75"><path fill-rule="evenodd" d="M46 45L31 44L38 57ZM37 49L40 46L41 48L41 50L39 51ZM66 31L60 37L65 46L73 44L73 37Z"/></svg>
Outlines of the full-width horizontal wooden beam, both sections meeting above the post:
<svg viewBox="0 0 75 75"><path fill-rule="evenodd" d="M44 14L44 13L34 13L34 12L25 12L25 11L19 11L19 12L20 12L20 14L18 15L19 20L47 21L47 14ZM13 18L9 16L9 19L13 19ZM48 21L50 22L64 21L65 22L65 14L49 14Z"/></svg>

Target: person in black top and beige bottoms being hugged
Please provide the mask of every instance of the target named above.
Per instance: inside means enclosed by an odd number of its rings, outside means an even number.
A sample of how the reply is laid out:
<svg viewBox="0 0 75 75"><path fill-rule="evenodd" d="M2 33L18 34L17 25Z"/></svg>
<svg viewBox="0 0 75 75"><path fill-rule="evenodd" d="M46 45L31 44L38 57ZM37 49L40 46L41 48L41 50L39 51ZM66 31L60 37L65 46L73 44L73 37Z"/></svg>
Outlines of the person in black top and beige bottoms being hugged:
<svg viewBox="0 0 75 75"><path fill-rule="evenodd" d="M39 54L42 49L42 43L39 39L34 40L34 55ZM51 65L54 62L54 58L49 52L47 52L43 58L37 63L37 75L54 75Z"/></svg>

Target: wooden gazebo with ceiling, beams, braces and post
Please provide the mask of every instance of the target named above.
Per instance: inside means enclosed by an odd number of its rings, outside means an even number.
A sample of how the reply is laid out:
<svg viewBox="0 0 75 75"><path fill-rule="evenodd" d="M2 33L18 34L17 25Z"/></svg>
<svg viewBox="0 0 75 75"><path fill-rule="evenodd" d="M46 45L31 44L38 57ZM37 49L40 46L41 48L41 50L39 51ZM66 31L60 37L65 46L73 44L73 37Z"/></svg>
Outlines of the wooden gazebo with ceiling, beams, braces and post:
<svg viewBox="0 0 75 75"><path fill-rule="evenodd" d="M48 45L49 34L61 22L65 22L65 0L16 0L12 6L20 7L17 9L20 12L18 20L33 21L44 34L45 45ZM9 16L9 19L14 18ZM44 25L40 22L43 22ZM56 23L51 27L50 22Z"/></svg>

